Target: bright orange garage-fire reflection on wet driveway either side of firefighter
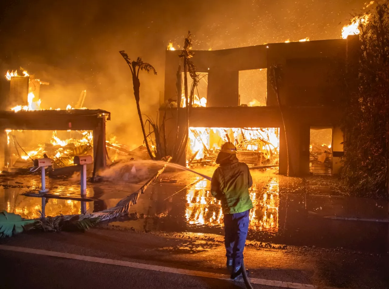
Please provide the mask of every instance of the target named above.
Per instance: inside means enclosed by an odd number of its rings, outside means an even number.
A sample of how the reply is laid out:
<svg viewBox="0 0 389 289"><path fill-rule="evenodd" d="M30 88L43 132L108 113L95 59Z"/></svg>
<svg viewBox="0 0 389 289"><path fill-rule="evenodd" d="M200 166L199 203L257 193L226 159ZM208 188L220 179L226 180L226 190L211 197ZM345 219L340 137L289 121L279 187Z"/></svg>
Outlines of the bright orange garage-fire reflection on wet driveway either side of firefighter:
<svg viewBox="0 0 389 289"><path fill-rule="evenodd" d="M209 184L209 183L208 183ZM212 197L207 181L198 177L198 181L188 188L186 193L185 218L189 225L223 226L221 202ZM263 188L263 186L260 186ZM279 228L279 181L270 178L266 191L256 191L252 187L250 198L254 208L250 211L251 230L277 232Z"/></svg>

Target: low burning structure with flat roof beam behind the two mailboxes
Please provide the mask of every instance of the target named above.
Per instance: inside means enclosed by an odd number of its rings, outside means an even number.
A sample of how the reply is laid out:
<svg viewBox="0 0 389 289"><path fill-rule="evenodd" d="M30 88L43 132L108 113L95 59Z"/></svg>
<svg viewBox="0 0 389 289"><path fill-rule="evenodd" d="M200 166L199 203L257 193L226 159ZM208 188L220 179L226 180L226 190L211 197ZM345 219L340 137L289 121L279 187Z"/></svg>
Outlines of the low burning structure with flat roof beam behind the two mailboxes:
<svg viewBox="0 0 389 289"><path fill-rule="evenodd" d="M49 85L23 71L8 71L8 97L0 111L4 169L26 169L33 159L49 157L53 168L68 167L75 155L93 154L94 172L107 164L105 122L110 113L83 107L86 91L75 108L44 109L40 86ZM3 170L4 170L3 169Z"/></svg>

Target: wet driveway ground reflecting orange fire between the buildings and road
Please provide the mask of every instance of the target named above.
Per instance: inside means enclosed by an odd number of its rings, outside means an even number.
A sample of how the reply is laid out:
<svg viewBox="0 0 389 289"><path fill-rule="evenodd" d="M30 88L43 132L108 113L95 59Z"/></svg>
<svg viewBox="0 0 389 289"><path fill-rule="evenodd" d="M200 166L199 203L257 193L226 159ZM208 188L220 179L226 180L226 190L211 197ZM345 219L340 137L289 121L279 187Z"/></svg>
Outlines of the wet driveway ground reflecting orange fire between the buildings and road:
<svg viewBox="0 0 389 289"><path fill-rule="evenodd" d="M208 175L212 172L208 172ZM250 212L248 240L287 245L343 247L382 252L388 244L388 223L342 221L324 216L363 216L387 218L388 204L364 198L334 195L309 181L286 178L268 172L253 172L250 189L254 209ZM193 235L224 235L221 204L209 192L209 182L186 172L162 176L173 182L152 185L130 207L129 216L109 224L140 232L164 232ZM166 180L166 179L165 179ZM39 217L41 198L22 193L40 186L39 176L0 178L0 209L15 212L24 218ZM114 207L140 184L127 181L90 184L84 202L50 198L46 216L98 212ZM48 179L53 195L79 196L78 181ZM375 244L371 246L371 244ZM386 251L385 251L386 252Z"/></svg>

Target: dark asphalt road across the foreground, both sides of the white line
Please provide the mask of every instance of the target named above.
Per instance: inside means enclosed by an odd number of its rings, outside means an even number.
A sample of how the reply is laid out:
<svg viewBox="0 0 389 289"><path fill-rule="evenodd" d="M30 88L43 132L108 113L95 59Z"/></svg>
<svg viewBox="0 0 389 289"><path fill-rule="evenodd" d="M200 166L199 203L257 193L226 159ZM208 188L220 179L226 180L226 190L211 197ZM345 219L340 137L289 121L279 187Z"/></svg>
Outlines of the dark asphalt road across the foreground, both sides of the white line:
<svg viewBox="0 0 389 289"><path fill-rule="evenodd" d="M17 247L227 274L223 240L201 234L197 236L189 234L178 239L163 234L95 228L86 233L32 232L1 240L1 243L4 242L5 245ZM5 275L5 279L0 280L7 280L6 284L15 286L8 286L8 288L20 288L21 282L26 282L25 286L34 288L40 280L44 279L47 280L42 281L44 286L40 288L62 288L61 286L66 282L73 282L72 286L67 288L89 288L89 284L95 288L102 288L108 287L105 285L111 280L115 286L122 286L122 280L125 280L125 284L131 281L142 285L143 283L138 283L142 280L150 286L145 288L176 288L178 285L172 285L176 279L184 280L177 284L186 288L191 286L194 288L202 288L202 286L204 288L224 288L227 286L222 280L176 276L173 273L145 271L30 253L0 250L0 256L2 264L6 264L7 267L0 270L0 273ZM288 246L285 249L274 249L247 246L244 256L246 268L250 270L253 278L347 289L389 288L388 255L312 247ZM22 275L18 275L19 272L22 272ZM19 276L23 276L23 281L19 280ZM147 276L147 280L143 280L144 276ZM94 283L95 280L98 280L97 285ZM29 282L32 286L29 286ZM77 282L81 282L81 285L75 286ZM170 285L165 286L165 283ZM104 286L100 287L99 284ZM236 286L243 286L243 284L238 283ZM131 286L126 285L126 287Z"/></svg>

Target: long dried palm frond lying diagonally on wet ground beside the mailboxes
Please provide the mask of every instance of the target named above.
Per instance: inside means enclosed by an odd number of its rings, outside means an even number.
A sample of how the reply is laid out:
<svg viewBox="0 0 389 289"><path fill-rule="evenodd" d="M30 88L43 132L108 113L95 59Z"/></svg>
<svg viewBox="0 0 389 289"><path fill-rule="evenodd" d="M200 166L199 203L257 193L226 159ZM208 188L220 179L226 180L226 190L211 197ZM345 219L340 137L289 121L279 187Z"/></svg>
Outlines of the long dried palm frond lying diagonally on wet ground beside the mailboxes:
<svg viewBox="0 0 389 289"><path fill-rule="evenodd" d="M167 157L166 162L170 162L172 157ZM167 165L167 164L166 164ZM160 174L163 173L166 169L166 165L164 165L159 171L157 171L151 179L149 179L139 190L131 195L120 200L115 207L110 209L106 209L104 211L92 213L91 216L93 218L98 217L100 221L105 221L113 218L121 217L125 214L128 214L128 209L131 205L136 204L140 194L143 194L148 186L150 186L154 181L159 177Z"/></svg>

